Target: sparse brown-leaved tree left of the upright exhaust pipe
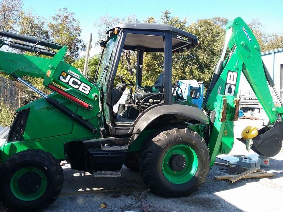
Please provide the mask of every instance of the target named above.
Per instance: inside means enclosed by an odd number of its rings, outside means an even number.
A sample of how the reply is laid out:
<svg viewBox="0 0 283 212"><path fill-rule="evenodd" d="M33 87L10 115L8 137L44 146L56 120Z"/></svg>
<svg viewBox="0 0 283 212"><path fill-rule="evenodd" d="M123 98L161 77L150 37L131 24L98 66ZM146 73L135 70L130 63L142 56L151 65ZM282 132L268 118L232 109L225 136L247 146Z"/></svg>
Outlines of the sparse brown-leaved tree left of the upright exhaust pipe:
<svg viewBox="0 0 283 212"><path fill-rule="evenodd" d="M81 28L80 23L74 17L74 13L63 8L58 10L57 14L52 16L52 22L48 23L50 37L57 43L67 45L71 58L66 62L74 62L79 56L79 51L85 50L85 43L79 39Z"/></svg>

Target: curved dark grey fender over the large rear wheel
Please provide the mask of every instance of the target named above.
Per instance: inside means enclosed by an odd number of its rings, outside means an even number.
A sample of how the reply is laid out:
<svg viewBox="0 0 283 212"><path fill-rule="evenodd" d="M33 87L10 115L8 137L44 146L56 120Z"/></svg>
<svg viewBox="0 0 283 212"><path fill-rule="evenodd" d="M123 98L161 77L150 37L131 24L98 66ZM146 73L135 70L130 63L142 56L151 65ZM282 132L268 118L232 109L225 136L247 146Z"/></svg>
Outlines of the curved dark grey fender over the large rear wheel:
<svg viewBox="0 0 283 212"><path fill-rule="evenodd" d="M209 124L208 117L206 117L204 112L197 107L182 104L159 105L150 109L141 117L136 119L133 124L134 129L132 131L132 134L141 133L154 119L165 114L181 115L187 117L190 120L193 119L204 124Z"/></svg>

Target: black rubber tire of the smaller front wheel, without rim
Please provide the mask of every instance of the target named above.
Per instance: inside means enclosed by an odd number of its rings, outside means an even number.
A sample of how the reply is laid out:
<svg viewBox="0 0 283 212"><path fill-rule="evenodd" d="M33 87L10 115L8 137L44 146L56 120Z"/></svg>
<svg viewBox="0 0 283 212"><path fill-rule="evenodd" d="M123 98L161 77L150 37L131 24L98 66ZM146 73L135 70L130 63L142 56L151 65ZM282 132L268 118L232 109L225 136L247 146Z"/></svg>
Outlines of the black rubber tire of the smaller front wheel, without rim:
<svg viewBox="0 0 283 212"><path fill-rule="evenodd" d="M33 167L40 169L47 178L45 193L34 201L22 201L11 192L11 178L17 170ZM0 195L5 207L14 211L37 211L45 209L59 196L64 181L59 160L43 150L24 150L16 153L0 167Z"/></svg>

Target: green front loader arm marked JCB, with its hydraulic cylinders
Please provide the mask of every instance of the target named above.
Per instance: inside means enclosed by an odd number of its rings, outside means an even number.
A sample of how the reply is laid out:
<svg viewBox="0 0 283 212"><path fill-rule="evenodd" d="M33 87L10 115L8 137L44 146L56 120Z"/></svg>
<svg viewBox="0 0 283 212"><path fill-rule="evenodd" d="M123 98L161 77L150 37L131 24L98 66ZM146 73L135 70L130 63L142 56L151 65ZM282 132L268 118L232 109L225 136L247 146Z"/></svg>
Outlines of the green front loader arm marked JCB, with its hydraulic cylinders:
<svg viewBox="0 0 283 212"><path fill-rule="evenodd" d="M98 127L86 120L82 115L78 115L77 111L71 110L69 107L58 102L55 98L37 90L34 86L22 79L23 76L42 78L43 85L48 90L74 102L81 108L81 110L90 110L88 113L92 113L95 111L93 108L96 109L99 105L99 113L102 113L100 87L88 81L80 70L64 62L66 52L68 51L67 46L7 31L0 31L0 36L25 42L20 43L12 40L6 41L0 39L0 48L4 45L8 45L15 49L33 52L35 56L42 54L51 57L35 57L0 51L0 72L4 72L5 74L14 77L43 97L48 104L60 110L87 130L90 130L93 133L98 132ZM32 43L34 45L27 43ZM44 48L39 46L44 46ZM62 88L65 88L65 90ZM22 108L19 108L17 111L19 110L22 110ZM101 120L101 123L102 122L103 120Z"/></svg>

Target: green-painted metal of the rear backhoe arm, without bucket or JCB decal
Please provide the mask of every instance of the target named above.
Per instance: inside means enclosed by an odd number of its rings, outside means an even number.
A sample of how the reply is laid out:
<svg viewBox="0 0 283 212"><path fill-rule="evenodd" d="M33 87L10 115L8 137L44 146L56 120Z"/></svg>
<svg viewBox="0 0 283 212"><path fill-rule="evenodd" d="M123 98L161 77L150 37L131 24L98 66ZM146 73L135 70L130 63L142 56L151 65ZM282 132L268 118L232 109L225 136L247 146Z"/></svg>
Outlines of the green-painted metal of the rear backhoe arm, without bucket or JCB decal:
<svg viewBox="0 0 283 212"><path fill-rule="evenodd" d="M226 31L231 27L233 27L233 33L228 42L231 57L228 56L224 61L219 79L207 103L207 109L215 112L215 121L208 143L211 157L210 166L213 165L217 155L222 153L228 154L233 147L232 120L235 113L234 100L237 98L241 73L244 74L251 85L251 88L272 123L275 122L278 114L282 114L283 112L282 109L276 109L274 106L262 65L259 44L254 34L241 18L229 21L226 25ZM237 73L236 85L234 85L235 92L233 96L226 96L224 92L226 82L228 81L228 73L231 71ZM220 122L223 99L225 98L227 99L227 116L226 120Z"/></svg>

